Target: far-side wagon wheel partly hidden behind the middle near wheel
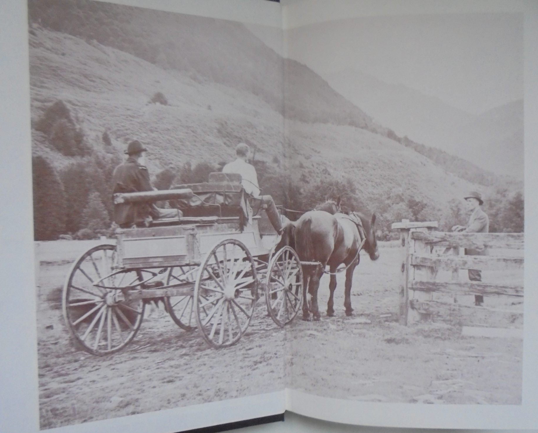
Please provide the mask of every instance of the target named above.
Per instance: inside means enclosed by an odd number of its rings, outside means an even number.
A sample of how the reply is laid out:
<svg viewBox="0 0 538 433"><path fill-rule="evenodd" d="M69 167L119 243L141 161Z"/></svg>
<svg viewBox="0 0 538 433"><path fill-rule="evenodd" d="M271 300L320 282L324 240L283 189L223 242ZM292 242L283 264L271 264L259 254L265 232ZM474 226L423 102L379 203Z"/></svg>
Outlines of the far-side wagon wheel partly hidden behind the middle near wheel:
<svg viewBox="0 0 538 433"><path fill-rule="evenodd" d="M196 269L194 266L176 266L170 268L167 285L196 280ZM166 310L172 320L182 329L193 331L196 329L196 320L193 317L194 297L192 294L184 296L165 297Z"/></svg>

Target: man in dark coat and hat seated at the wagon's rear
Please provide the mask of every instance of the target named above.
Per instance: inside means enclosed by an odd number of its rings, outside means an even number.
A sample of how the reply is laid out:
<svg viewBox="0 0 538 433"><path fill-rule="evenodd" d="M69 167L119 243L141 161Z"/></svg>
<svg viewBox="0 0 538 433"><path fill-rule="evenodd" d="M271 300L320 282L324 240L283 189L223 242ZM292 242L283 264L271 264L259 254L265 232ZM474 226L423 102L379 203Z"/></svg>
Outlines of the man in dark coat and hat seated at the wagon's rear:
<svg viewBox="0 0 538 433"><path fill-rule="evenodd" d="M146 148L138 140L129 143L126 154L129 158L117 166L112 175L112 194L140 193L153 191L150 173L145 166ZM114 220L122 228L145 223L148 219L178 218L178 209L160 209L153 203L118 203L114 205Z"/></svg>

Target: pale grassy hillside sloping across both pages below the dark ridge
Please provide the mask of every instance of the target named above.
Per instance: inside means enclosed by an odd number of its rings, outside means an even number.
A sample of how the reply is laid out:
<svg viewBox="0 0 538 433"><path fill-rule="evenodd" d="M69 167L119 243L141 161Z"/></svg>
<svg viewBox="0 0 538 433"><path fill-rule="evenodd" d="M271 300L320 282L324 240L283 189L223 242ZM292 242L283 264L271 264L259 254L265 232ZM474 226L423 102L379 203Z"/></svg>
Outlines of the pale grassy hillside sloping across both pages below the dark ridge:
<svg viewBox="0 0 538 433"><path fill-rule="evenodd" d="M449 202L476 187L382 134L315 117L310 122L285 122L263 97L247 90L193 80L188 74L163 69L116 48L39 25L32 26L29 38L33 126L56 101L62 101L89 146L90 156L66 156L45 133L33 130L34 155L51 162L62 180L76 180L76 172L66 175L75 164L93 167L117 161L126 143L135 138L150 148L147 165L153 175L167 167L177 173L186 162L216 165L230 160L238 141L244 140L256 149L256 160L264 162L259 173L268 185L265 192L274 194L280 203L291 207L300 203L296 197L284 203L289 197L279 194L287 178L299 197L311 198L317 197L315 193L324 184L349 182L358 200L378 213L385 231L395 219L413 218L406 205L410 199L424 203L420 218L442 221L450 211ZM289 68L292 72L293 67ZM297 79L300 76L296 74ZM307 77L308 85L321 80ZM148 103L157 92L165 95L167 105ZM323 95L322 89L303 98L306 106L313 105L305 116L315 115L316 107L323 105ZM355 119L367 125L366 115ZM105 131L111 141L108 146L102 139ZM282 158L284 149L286 160ZM96 159L96 155L104 157ZM109 168L104 167L102 173L107 177L87 175L88 180L81 182L85 194L91 193L88 184L108 182ZM73 197L70 182L64 187L66 196ZM110 212L110 191L95 188ZM336 191L341 192L345 191ZM79 198L82 208L86 200Z"/></svg>

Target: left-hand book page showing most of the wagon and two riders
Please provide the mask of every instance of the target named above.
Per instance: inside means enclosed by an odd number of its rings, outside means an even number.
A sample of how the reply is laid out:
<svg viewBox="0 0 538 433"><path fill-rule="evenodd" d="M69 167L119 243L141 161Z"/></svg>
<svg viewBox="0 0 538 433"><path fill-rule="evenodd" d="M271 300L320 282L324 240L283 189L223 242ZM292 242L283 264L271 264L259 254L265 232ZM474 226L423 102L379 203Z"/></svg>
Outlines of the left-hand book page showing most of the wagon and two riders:
<svg viewBox="0 0 538 433"><path fill-rule="evenodd" d="M280 5L13 1L0 20L0 430L282 414L276 236L256 198L283 200Z"/></svg>

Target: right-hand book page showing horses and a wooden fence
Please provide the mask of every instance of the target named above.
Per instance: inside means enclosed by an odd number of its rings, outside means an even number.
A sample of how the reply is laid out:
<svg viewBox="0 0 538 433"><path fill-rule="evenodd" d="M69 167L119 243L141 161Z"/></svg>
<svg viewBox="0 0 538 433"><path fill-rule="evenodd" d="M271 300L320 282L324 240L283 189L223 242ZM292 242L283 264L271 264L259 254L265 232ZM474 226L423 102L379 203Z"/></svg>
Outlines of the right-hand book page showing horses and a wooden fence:
<svg viewBox="0 0 538 433"><path fill-rule="evenodd" d="M536 428L537 18L530 2L284 5L289 205L342 212L294 222L309 285L290 410Z"/></svg>

